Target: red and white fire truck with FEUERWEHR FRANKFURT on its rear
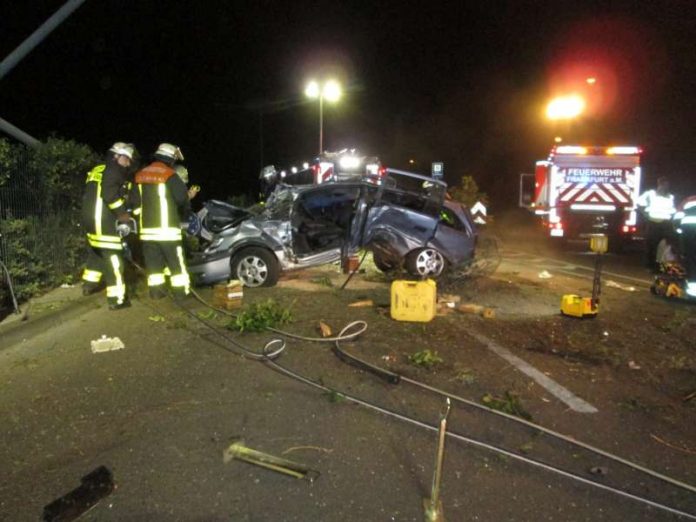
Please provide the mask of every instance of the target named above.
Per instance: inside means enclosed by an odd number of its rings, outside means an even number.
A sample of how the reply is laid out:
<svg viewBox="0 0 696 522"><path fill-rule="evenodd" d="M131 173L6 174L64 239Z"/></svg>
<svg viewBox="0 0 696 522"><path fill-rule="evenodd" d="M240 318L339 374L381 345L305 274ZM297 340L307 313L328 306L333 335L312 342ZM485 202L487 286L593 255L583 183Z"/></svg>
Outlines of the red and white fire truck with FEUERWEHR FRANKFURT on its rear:
<svg viewBox="0 0 696 522"><path fill-rule="evenodd" d="M641 149L557 145L520 178L520 205L540 216L552 238L602 232L619 248L636 236ZM610 242L612 243L612 242Z"/></svg>

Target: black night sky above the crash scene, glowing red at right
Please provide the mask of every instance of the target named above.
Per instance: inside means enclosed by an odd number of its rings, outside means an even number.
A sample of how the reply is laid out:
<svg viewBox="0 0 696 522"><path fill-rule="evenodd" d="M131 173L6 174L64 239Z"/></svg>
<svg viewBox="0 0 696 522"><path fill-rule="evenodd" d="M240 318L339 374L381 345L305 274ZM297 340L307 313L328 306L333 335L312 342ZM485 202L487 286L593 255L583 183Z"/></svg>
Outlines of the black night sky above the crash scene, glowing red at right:
<svg viewBox="0 0 696 522"><path fill-rule="evenodd" d="M0 58L63 4L0 0ZM696 5L692 1L234 2L87 0L0 80L0 116L41 139L99 151L178 144L204 198L255 191L261 164L318 147L310 78L338 78L325 149L357 147L446 180L473 175L516 203L560 135L638 144L647 183L696 193ZM585 82L596 77L595 85ZM572 124L543 115L582 92Z"/></svg>

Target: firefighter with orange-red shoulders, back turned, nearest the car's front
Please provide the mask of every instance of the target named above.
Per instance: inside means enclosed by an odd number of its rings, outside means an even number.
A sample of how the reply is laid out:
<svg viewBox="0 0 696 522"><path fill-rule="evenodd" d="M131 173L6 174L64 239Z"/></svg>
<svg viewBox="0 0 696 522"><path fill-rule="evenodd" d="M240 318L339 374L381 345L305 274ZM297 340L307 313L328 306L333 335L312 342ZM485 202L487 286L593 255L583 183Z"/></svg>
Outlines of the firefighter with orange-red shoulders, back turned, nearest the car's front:
<svg viewBox="0 0 696 522"><path fill-rule="evenodd" d="M188 295L190 279L182 247L181 222L191 212L186 185L176 175L184 156L176 145L162 143L153 162L135 175L133 214L145 258L150 297L167 295L167 276L175 298Z"/></svg>

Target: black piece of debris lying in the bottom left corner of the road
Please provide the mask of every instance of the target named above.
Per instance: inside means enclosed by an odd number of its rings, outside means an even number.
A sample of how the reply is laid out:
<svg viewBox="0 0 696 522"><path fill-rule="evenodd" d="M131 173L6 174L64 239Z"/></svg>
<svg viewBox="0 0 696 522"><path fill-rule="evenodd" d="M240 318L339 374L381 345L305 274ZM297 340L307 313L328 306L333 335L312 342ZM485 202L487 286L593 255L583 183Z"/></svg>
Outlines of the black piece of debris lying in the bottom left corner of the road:
<svg viewBox="0 0 696 522"><path fill-rule="evenodd" d="M88 473L82 477L81 482L79 487L45 506L41 520L44 522L76 520L116 489L114 477L105 466L99 466Z"/></svg>

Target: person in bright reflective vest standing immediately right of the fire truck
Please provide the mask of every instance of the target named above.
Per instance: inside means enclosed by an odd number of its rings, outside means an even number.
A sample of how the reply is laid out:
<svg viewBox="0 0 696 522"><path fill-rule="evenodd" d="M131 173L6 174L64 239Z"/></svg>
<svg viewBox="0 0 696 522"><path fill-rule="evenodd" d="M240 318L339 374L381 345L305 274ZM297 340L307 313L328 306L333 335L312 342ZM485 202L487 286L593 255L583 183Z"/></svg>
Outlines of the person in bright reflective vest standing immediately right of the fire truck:
<svg viewBox="0 0 696 522"><path fill-rule="evenodd" d="M667 178L658 178L657 188L643 192L636 204L645 223L645 264L656 272L657 245L662 239L673 235L672 216L676 211Z"/></svg>

